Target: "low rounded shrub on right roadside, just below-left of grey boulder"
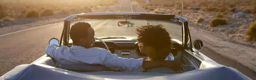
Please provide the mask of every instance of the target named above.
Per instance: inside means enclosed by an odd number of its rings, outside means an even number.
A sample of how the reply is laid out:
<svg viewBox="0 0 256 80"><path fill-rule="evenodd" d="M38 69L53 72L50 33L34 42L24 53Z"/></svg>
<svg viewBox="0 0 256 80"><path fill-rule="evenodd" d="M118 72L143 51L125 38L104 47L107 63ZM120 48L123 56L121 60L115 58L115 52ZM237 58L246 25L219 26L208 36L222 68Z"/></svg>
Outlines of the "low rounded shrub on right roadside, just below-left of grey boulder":
<svg viewBox="0 0 256 80"><path fill-rule="evenodd" d="M228 20L223 18L213 18L210 22L211 27L216 27L218 25L226 25L226 24L228 24Z"/></svg>

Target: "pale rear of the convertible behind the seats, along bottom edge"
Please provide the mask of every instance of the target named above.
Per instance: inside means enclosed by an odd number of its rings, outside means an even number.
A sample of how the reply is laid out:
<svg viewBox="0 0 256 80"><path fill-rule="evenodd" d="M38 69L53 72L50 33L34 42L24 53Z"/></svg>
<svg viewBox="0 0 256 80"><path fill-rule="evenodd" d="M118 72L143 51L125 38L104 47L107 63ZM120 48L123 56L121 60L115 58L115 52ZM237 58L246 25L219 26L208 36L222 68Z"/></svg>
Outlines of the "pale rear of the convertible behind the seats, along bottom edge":
<svg viewBox="0 0 256 80"><path fill-rule="evenodd" d="M141 72L73 72L43 64L22 64L0 79L6 80L124 80L124 79L159 79L159 80L250 80L234 68L225 67L211 60L203 62L202 69L180 73L141 73ZM208 65L208 66L207 66Z"/></svg>

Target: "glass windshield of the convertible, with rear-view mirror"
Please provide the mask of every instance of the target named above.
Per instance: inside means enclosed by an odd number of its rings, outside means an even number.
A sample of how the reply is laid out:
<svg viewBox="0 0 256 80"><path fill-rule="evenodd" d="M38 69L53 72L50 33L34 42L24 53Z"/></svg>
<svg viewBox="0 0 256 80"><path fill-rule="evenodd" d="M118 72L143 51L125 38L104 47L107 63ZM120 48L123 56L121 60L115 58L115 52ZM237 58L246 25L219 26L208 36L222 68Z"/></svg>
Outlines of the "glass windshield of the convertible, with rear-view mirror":
<svg viewBox="0 0 256 80"><path fill-rule="evenodd" d="M127 22L126 22L127 21ZM166 20L135 20L135 19L108 19L108 20L73 20L71 26L76 22L88 22L95 31L94 37L108 38L122 38L122 36L129 36L137 38L136 27L146 26L147 23L151 25L163 25L167 29L172 39L182 41L181 22L172 22ZM119 24L119 25L118 25ZM115 37L111 37L115 36ZM69 38L70 39L70 38ZM136 40L136 39L135 39Z"/></svg>

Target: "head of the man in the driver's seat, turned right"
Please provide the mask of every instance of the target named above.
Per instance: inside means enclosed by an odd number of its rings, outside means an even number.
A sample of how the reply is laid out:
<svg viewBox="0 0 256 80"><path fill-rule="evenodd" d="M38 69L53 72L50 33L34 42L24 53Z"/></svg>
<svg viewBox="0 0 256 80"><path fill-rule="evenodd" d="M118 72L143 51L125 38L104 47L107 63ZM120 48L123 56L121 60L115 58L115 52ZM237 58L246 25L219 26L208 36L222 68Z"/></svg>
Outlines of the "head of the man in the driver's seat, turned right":
<svg viewBox="0 0 256 80"><path fill-rule="evenodd" d="M89 23L77 22L70 29L70 38L73 45L92 48L94 39L94 30Z"/></svg>

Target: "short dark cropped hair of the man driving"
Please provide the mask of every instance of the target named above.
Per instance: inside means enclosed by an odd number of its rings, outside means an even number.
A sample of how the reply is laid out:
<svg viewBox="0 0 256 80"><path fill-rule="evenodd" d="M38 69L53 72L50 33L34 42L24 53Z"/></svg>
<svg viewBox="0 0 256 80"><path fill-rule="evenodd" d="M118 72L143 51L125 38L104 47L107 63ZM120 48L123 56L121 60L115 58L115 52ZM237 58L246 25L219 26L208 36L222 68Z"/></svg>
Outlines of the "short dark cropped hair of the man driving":
<svg viewBox="0 0 256 80"><path fill-rule="evenodd" d="M91 25L87 22L77 22L72 25L70 29L70 38L72 41L77 42L79 39L87 37L89 27L91 27Z"/></svg>

